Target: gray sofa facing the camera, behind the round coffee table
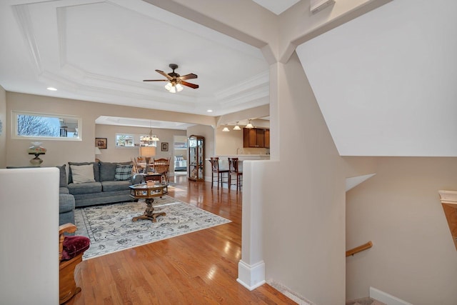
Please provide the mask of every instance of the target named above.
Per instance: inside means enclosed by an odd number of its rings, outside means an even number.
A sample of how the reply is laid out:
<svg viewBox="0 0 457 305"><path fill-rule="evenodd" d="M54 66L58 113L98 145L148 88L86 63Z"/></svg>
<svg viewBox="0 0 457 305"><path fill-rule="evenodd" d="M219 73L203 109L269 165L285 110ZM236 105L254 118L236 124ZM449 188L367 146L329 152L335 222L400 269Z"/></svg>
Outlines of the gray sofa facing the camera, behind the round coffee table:
<svg viewBox="0 0 457 305"><path fill-rule="evenodd" d="M94 180L91 182L75 183L71 168L73 166L89 165L93 166ZM119 180L116 168L119 165L128 166L131 162L69 162L69 194L74 196L75 206L93 206L96 204L108 204L121 201L131 201L128 179Z"/></svg>

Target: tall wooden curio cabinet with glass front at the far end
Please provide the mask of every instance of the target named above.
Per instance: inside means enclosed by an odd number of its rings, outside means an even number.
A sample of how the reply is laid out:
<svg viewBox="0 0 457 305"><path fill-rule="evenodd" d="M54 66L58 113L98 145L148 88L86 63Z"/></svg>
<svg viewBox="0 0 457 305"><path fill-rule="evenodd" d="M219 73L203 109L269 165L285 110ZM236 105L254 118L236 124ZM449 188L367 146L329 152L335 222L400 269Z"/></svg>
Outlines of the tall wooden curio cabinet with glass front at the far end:
<svg viewBox="0 0 457 305"><path fill-rule="evenodd" d="M205 138L189 136L189 180L205 180Z"/></svg>

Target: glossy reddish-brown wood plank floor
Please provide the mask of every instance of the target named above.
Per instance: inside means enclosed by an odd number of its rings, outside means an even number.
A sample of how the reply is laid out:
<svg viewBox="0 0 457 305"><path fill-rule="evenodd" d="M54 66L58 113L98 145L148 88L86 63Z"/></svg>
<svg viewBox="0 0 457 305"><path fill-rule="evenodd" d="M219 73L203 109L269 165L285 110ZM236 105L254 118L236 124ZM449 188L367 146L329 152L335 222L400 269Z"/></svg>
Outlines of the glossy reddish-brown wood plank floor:
<svg viewBox="0 0 457 305"><path fill-rule="evenodd" d="M241 192L171 179L170 196L232 222L83 261L82 291L66 304L296 304L268 284L248 291L236 281Z"/></svg>

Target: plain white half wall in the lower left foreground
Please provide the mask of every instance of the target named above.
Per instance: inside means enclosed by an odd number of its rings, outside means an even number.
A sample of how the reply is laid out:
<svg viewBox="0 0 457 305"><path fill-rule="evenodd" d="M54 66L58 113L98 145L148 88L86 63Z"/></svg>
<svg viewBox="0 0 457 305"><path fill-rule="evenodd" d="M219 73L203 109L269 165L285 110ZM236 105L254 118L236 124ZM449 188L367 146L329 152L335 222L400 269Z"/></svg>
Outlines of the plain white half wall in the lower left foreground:
<svg viewBox="0 0 457 305"><path fill-rule="evenodd" d="M59 169L0 169L1 304L59 304Z"/></svg>

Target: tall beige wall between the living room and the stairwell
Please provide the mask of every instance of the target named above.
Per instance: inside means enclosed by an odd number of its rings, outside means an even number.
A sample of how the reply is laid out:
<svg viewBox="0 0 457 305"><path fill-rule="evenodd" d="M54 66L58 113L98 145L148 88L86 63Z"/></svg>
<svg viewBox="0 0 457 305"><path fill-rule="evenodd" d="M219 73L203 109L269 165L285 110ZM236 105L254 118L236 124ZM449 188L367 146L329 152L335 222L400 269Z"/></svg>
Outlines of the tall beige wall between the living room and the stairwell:
<svg viewBox="0 0 457 305"><path fill-rule="evenodd" d="M279 170L256 176L265 184L266 279L315 304L343 304L345 180L341 157L296 54L287 64L278 64L278 80Z"/></svg>

